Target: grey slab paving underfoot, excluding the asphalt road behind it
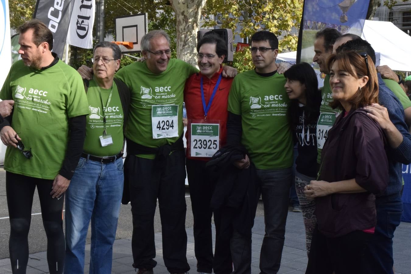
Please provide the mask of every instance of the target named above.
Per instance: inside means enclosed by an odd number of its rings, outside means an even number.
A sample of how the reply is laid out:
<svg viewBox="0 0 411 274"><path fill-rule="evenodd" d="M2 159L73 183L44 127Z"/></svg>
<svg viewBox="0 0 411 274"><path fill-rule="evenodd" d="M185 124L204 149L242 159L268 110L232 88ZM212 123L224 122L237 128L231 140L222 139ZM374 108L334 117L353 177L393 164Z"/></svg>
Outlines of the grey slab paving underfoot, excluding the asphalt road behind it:
<svg viewBox="0 0 411 274"><path fill-rule="evenodd" d="M252 273L259 273L259 256L261 242L264 235L263 216L256 217L252 234ZM194 256L194 238L192 228L187 228L187 259L191 267L190 272L196 273L196 258ZM307 265L307 253L305 252L304 228L301 213L289 212L286 226L286 240L282 255L279 273L302 274ZM162 259L161 233L155 234L157 249L155 273L168 273ZM4 248L5 246L3 246ZM86 246L86 253L90 251L90 245ZM132 265L131 239L118 239L114 244L112 273L132 274L136 273ZM411 223L401 223L395 232L394 259L397 274L411 274ZM90 257L86 257L86 263ZM46 252L30 254L27 270L28 274L48 273ZM0 274L11 273L9 259L0 260ZM85 266L88 273L88 265Z"/></svg>

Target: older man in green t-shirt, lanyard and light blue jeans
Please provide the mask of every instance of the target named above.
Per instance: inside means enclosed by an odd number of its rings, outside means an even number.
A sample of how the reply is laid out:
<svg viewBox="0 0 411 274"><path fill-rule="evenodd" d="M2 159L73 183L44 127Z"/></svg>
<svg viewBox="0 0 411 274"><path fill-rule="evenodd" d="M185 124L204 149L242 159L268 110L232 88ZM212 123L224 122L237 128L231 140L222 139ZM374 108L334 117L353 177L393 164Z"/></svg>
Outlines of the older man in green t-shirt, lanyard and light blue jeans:
<svg viewBox="0 0 411 274"><path fill-rule="evenodd" d="M127 86L113 81L120 59L116 44L101 41L94 47L94 77L86 90L91 114L86 120L83 153L66 193L65 274L83 273L90 219L90 273L111 273L124 183L123 124L130 102Z"/></svg>

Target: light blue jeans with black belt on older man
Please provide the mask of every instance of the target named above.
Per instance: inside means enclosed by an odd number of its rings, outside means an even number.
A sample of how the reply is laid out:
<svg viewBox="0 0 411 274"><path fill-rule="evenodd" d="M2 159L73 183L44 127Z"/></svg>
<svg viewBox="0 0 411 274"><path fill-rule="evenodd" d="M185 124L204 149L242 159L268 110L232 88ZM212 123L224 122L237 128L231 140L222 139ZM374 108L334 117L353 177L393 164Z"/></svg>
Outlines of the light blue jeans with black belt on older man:
<svg viewBox="0 0 411 274"><path fill-rule="evenodd" d="M123 160L99 163L80 158L66 191L65 274L83 273L91 219L90 274L110 274L123 193Z"/></svg>

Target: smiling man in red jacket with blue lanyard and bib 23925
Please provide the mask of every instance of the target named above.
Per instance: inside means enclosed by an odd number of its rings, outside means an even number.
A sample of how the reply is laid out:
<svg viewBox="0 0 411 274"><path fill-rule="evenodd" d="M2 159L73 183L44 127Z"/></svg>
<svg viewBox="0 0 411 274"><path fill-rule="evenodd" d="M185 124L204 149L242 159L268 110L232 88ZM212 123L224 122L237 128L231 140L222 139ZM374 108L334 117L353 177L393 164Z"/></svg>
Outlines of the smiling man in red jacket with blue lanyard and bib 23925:
<svg viewBox="0 0 411 274"><path fill-rule="evenodd" d="M194 215L197 272L211 273L213 212L210 200L214 186L205 170L205 164L226 143L227 101L233 78L221 75L227 44L218 35L205 35L197 44L197 52L200 72L188 78L184 90L188 118L186 165ZM231 258L224 262L223 268L227 271L219 271L221 267L223 266L214 269L214 272L230 273Z"/></svg>

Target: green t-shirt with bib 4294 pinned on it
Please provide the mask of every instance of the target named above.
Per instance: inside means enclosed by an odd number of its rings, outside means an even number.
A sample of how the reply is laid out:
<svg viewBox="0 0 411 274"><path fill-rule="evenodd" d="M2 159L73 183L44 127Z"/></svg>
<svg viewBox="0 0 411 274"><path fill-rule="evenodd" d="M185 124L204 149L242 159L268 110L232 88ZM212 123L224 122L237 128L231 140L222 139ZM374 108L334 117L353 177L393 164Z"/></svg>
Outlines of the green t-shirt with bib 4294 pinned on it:
<svg viewBox="0 0 411 274"><path fill-rule="evenodd" d="M146 62L134 62L120 69L115 77L123 81L131 92L125 136L146 147L160 147L178 140L184 129L182 102L185 81L196 72L198 69L178 59L170 59L167 69L161 74L152 73ZM161 119L161 113L168 116ZM165 137L171 136L170 133L173 137ZM154 154L138 156L155 158Z"/></svg>

